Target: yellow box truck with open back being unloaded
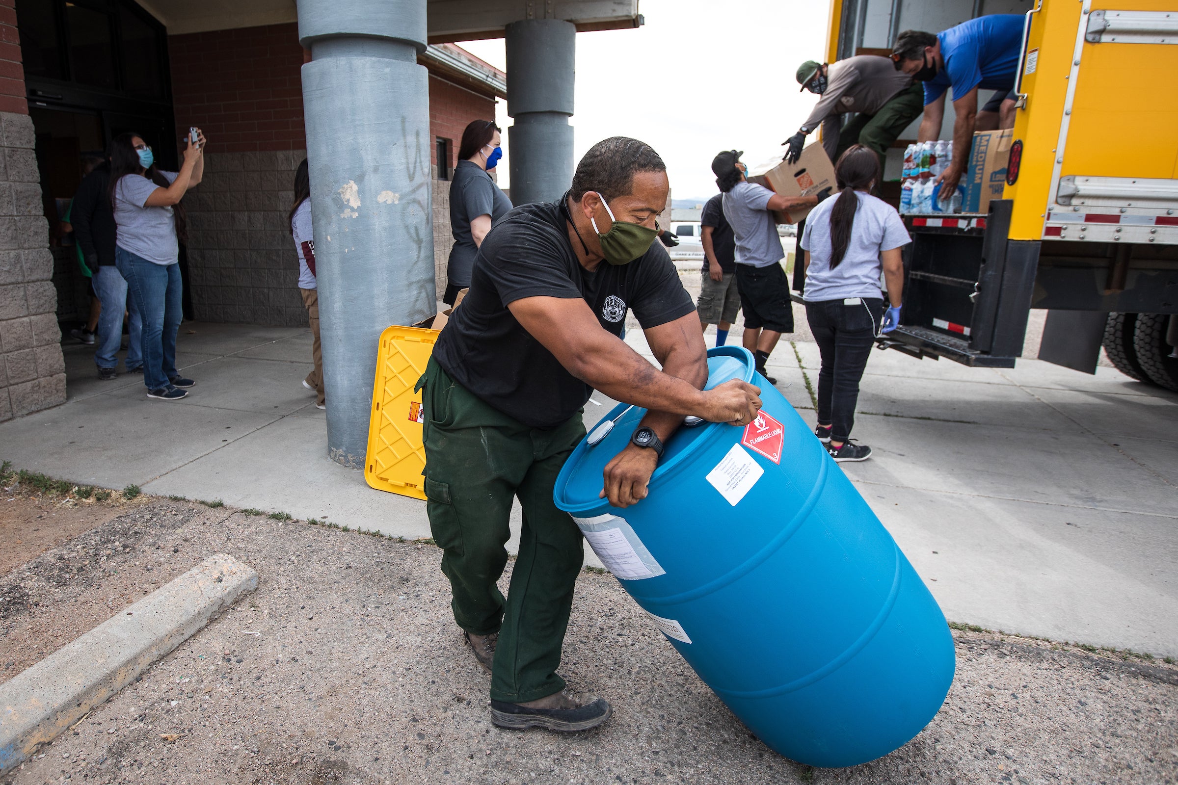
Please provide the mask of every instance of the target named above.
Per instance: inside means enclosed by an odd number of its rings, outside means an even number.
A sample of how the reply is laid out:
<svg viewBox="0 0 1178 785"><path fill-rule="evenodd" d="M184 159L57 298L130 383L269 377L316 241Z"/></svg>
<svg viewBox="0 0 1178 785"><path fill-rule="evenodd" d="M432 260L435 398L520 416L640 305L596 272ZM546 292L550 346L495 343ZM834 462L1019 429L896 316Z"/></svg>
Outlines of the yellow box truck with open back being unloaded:
<svg viewBox="0 0 1178 785"><path fill-rule="evenodd" d="M833 0L827 61L982 13L1025 14L1002 198L906 217L901 327L882 345L1013 367L1045 308L1040 359L1092 373L1104 346L1178 391L1178 0Z"/></svg>

